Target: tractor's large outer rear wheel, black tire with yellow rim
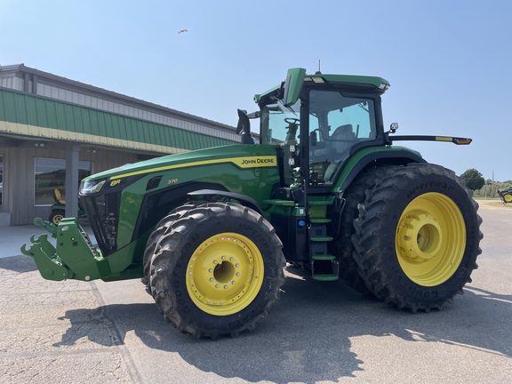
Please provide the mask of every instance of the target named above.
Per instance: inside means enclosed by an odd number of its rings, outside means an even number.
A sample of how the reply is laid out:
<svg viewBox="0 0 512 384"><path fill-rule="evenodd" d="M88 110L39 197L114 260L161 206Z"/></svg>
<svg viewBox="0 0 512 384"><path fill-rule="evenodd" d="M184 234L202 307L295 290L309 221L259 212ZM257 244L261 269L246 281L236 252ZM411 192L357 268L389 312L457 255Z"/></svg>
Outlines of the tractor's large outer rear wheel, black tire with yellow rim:
<svg viewBox="0 0 512 384"><path fill-rule="evenodd" d="M354 258L366 285L412 312L452 302L482 252L477 209L452 171L434 164L389 169L354 220Z"/></svg>

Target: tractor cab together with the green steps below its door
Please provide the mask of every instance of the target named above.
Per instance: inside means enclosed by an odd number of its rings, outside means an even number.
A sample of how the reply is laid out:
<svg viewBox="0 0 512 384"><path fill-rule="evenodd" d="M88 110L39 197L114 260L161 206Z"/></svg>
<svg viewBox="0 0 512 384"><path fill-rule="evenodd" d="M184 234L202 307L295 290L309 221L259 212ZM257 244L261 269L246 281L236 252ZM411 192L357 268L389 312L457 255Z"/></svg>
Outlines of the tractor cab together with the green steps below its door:
<svg viewBox="0 0 512 384"><path fill-rule="evenodd" d="M360 149L383 147L380 95L388 86L380 77L306 75L292 68L280 86L254 97L260 110L247 116L260 118L260 144L276 148L282 182L264 201L266 214L284 252L317 280L338 278L331 223L343 206L341 183L348 177L342 172L354 168L347 164ZM243 143L249 143L248 118L238 125Z"/></svg>

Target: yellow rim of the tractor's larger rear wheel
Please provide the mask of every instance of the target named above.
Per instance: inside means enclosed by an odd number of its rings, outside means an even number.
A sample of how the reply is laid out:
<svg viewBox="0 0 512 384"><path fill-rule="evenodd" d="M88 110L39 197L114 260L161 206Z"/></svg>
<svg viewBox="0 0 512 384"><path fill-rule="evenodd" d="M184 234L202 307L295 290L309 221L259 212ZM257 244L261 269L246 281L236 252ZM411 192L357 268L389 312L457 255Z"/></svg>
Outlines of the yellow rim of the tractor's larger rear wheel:
<svg viewBox="0 0 512 384"><path fill-rule="evenodd" d="M429 192L405 207L396 228L396 255L414 283L443 284L459 268L465 248L464 218L450 197Z"/></svg>

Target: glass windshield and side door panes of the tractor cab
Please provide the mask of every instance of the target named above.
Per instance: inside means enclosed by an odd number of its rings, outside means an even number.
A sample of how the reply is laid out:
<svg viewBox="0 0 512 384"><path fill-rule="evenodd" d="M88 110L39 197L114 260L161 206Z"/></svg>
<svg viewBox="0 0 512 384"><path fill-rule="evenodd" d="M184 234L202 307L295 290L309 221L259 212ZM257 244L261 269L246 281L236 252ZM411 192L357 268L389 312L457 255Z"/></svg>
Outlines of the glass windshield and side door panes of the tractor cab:
<svg viewBox="0 0 512 384"><path fill-rule="evenodd" d="M291 108L283 103L260 109L260 143L283 148L286 184L299 165L301 146L308 147L308 179L312 186L332 185L354 147L372 145L377 138L374 101L344 96L336 89L312 89L308 97L309 130L300 137L300 100ZM301 142L302 141L302 142ZM306 164L302 164L303 166Z"/></svg>

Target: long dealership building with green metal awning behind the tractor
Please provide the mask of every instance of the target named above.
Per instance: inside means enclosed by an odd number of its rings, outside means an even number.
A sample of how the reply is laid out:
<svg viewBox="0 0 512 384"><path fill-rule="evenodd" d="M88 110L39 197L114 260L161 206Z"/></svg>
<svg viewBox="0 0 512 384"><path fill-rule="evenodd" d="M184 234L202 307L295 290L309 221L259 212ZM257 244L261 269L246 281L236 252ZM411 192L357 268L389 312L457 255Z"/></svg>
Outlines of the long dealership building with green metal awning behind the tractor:
<svg viewBox="0 0 512 384"><path fill-rule="evenodd" d="M235 128L89 84L0 66L0 225L49 216L54 193L154 156L240 142ZM77 199L66 215L76 216Z"/></svg>

